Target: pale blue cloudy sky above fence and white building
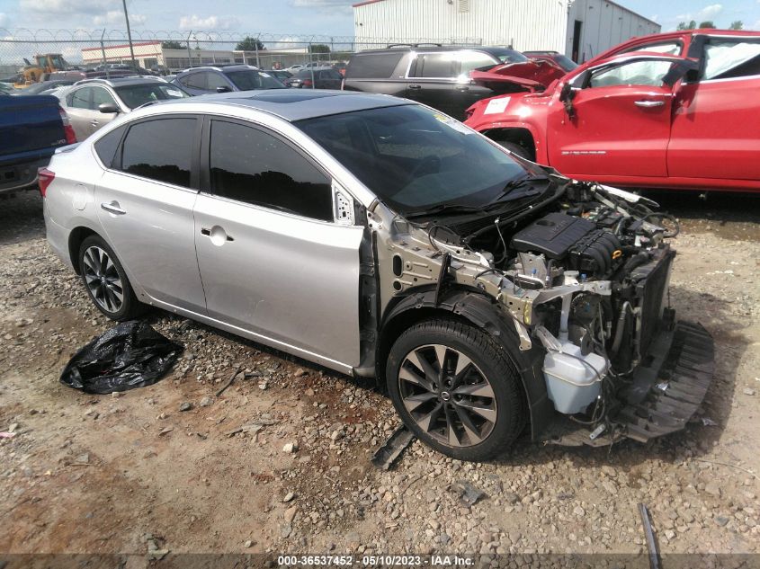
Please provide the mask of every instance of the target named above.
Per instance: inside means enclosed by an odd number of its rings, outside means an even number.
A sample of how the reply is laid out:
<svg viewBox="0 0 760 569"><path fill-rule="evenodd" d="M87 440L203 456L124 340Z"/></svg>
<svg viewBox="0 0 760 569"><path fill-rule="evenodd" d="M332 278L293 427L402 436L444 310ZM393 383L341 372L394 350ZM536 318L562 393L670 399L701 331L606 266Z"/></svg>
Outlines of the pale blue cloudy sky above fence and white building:
<svg viewBox="0 0 760 569"><path fill-rule="evenodd" d="M355 0L354 0L355 1ZM414 0L411 0L414 1ZM136 31L232 31L353 35L346 0L128 0ZM673 30L678 22L741 20L760 30L760 0L618 0ZM121 0L0 0L0 29L123 29Z"/></svg>

